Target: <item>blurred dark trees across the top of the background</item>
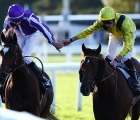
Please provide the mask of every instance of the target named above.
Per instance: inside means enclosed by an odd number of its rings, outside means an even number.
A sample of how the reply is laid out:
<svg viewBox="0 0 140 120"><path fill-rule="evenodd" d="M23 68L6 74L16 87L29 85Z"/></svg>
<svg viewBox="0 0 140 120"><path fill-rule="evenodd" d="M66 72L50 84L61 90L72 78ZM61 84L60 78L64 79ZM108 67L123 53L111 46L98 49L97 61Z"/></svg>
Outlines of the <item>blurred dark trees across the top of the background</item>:
<svg viewBox="0 0 140 120"><path fill-rule="evenodd" d="M117 12L135 13L136 2L140 0L69 0L71 14L98 14L100 9L109 5ZM3 28L3 21L7 15L8 7L14 3L29 4L35 14L59 15L62 10L62 0L0 0L0 30Z"/></svg>

